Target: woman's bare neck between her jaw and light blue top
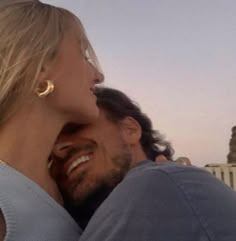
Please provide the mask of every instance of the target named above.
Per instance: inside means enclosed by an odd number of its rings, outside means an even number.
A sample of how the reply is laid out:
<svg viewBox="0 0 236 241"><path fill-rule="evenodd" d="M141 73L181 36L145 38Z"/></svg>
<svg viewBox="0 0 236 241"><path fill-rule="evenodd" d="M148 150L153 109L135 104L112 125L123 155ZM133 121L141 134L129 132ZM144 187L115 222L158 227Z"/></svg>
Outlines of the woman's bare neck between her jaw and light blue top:
<svg viewBox="0 0 236 241"><path fill-rule="evenodd" d="M41 186L57 202L62 198L48 170L48 158L63 122L42 113L17 113L0 129L0 159Z"/></svg>

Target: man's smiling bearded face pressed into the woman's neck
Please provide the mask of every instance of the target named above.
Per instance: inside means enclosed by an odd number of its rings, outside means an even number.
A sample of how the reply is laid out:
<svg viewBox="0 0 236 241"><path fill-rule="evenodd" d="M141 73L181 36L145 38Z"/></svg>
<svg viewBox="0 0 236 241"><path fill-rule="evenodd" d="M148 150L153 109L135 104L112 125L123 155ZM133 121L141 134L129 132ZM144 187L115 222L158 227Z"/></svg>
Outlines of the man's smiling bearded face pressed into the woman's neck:
<svg viewBox="0 0 236 241"><path fill-rule="evenodd" d="M62 133L54 147L51 174L64 197L83 204L93 193L114 188L130 168L132 157L122 125L101 111L95 124Z"/></svg>

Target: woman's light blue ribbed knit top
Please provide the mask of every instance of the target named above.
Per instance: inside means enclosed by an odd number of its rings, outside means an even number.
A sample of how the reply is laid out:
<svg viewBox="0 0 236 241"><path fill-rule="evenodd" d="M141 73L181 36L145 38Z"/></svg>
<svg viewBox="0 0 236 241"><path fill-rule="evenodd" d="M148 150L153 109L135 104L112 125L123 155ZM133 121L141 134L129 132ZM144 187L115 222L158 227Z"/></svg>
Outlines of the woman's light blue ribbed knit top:
<svg viewBox="0 0 236 241"><path fill-rule="evenodd" d="M48 193L6 164L0 164L0 209L5 241L78 241L82 232Z"/></svg>

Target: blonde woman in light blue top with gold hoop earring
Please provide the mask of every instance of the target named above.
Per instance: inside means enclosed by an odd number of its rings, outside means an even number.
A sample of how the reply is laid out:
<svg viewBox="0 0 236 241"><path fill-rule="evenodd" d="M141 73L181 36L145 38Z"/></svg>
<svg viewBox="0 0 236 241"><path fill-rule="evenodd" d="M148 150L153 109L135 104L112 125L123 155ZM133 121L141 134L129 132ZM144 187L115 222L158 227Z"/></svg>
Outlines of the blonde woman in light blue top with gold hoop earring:
<svg viewBox="0 0 236 241"><path fill-rule="evenodd" d="M72 13L0 1L0 240L78 240L48 157L65 123L97 117L93 89L102 80Z"/></svg>

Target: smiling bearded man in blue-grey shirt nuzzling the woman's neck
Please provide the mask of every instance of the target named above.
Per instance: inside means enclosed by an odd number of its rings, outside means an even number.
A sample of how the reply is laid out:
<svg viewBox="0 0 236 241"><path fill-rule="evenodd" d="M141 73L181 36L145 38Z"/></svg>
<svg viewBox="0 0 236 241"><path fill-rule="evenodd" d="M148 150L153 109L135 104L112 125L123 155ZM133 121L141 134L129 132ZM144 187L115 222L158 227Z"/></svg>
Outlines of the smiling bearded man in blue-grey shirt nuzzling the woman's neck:
<svg viewBox="0 0 236 241"><path fill-rule="evenodd" d="M140 109L117 90L98 89L97 98L97 123L65 128L53 156L53 176L74 206L93 195L98 206L117 185L80 241L235 241L236 193L202 169L148 161L171 151L161 138L145 141Z"/></svg>

